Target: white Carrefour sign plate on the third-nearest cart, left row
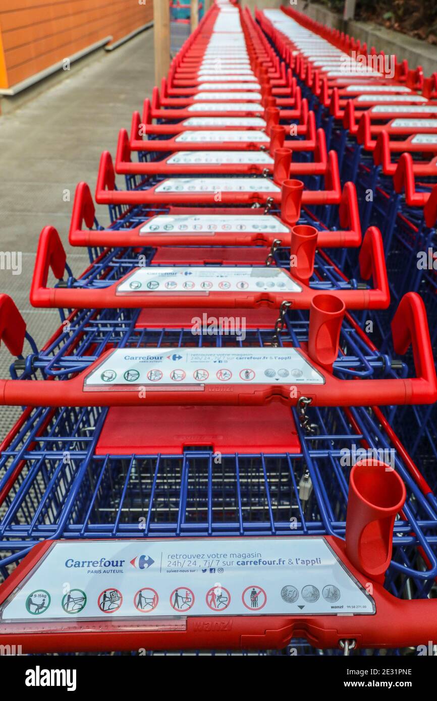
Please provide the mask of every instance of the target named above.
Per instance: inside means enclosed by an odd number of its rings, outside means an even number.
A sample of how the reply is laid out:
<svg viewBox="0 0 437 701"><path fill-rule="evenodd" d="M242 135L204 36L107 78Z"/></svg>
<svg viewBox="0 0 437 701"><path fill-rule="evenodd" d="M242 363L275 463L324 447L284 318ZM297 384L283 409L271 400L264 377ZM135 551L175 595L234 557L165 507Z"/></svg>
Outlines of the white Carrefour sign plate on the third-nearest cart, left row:
<svg viewBox="0 0 437 701"><path fill-rule="evenodd" d="M144 292L302 292L282 268L267 266L148 266L117 286L117 294Z"/></svg>

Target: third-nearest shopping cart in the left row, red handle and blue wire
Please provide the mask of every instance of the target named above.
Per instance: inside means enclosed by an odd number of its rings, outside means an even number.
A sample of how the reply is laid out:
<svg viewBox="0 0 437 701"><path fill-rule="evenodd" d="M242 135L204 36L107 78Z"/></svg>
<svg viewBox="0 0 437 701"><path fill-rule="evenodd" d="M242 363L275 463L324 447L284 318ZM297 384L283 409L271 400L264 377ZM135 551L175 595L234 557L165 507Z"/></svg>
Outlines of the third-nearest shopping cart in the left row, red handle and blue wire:
<svg viewBox="0 0 437 701"><path fill-rule="evenodd" d="M181 241L182 243L182 241ZM279 243L279 241L277 241ZM347 280L321 252L316 257L318 231L314 226L298 225L291 230L288 259L274 256L255 262L243 250L240 265L231 256L236 248L224 250L222 265L206 265L202 249L195 253L181 247L177 264L163 265L162 255L152 257L146 248L112 249L101 254L79 279L72 276L58 231L46 226L41 231L36 253L30 300L33 306L60 308L179 308L227 307L308 309L320 292L332 295L349 309L375 309L389 306L389 287L384 264L382 237L375 227L368 229L358 254L359 277ZM262 252L262 249L261 249ZM210 251L206 250L206 255ZM205 254L204 253L204 254ZM203 262L203 265L202 265ZM196 264L197 263L197 264ZM48 273L58 278L56 287L48 286ZM64 280L67 273L67 280ZM372 287L365 280L372 278Z"/></svg>

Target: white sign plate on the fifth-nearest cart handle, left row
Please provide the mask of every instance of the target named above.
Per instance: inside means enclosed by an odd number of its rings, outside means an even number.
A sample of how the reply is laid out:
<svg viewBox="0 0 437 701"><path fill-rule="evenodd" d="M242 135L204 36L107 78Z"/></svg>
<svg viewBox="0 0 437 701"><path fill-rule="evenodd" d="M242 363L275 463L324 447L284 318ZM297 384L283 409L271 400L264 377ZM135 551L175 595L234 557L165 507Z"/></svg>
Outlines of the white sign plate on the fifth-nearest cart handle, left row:
<svg viewBox="0 0 437 701"><path fill-rule="evenodd" d="M281 188L266 177L170 177L156 186L155 192L281 192Z"/></svg>

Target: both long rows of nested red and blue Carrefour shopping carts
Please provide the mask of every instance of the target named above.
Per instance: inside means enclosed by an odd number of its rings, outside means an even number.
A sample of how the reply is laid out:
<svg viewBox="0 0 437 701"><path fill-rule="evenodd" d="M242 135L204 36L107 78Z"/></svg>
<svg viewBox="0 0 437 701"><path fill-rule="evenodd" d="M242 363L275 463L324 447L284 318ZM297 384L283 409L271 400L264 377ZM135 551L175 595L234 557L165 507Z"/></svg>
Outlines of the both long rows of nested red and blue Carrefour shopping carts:
<svg viewBox="0 0 437 701"><path fill-rule="evenodd" d="M76 188L79 278L41 231L60 327L0 297L1 644L435 639L437 85L386 59L215 0Z"/></svg>

